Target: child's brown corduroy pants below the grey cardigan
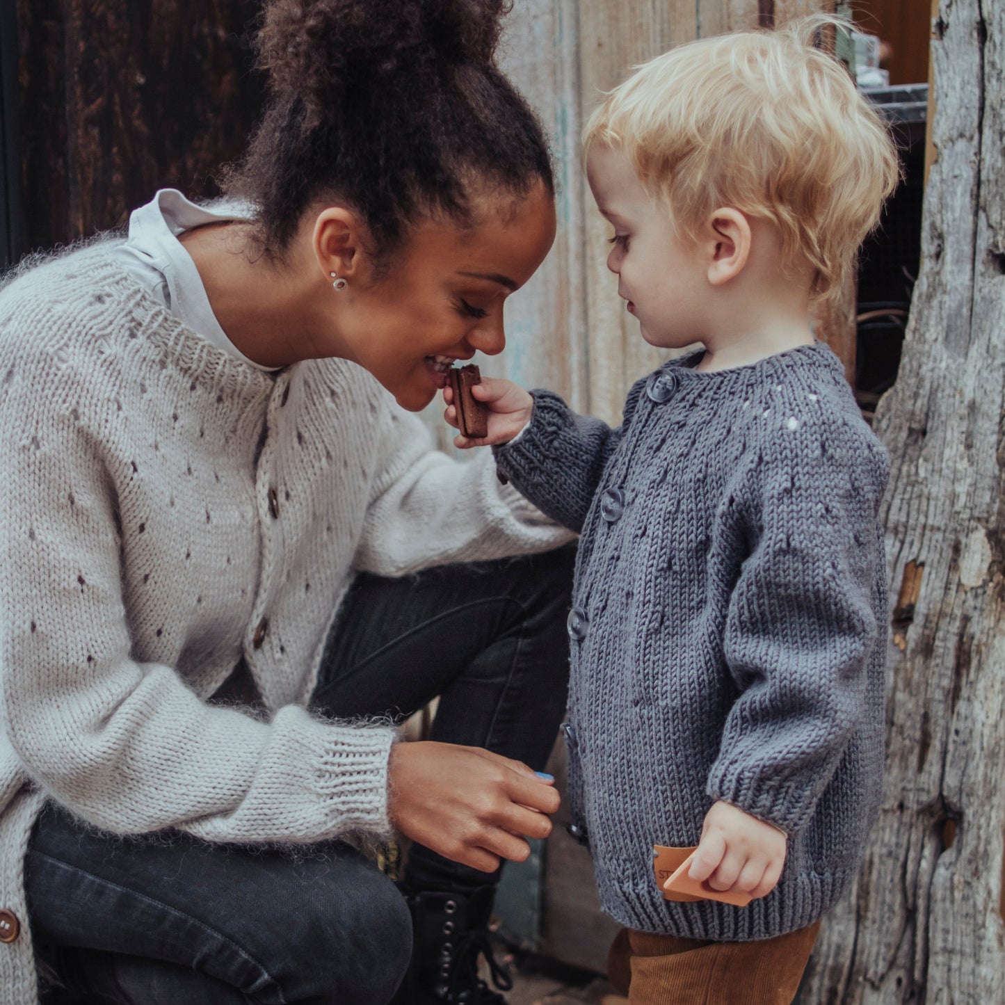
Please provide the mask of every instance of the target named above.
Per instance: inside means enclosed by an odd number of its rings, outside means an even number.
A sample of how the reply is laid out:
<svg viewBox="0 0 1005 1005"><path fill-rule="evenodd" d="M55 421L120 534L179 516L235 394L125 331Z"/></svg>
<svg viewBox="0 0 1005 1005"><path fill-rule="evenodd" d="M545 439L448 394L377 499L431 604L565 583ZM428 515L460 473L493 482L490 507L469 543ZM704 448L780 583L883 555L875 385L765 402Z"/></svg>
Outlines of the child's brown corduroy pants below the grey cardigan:
<svg viewBox="0 0 1005 1005"><path fill-rule="evenodd" d="M791 1005L819 929L746 943L622 929L608 976L631 1005Z"/></svg>

